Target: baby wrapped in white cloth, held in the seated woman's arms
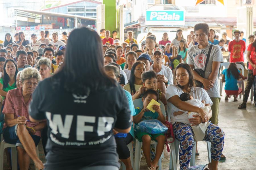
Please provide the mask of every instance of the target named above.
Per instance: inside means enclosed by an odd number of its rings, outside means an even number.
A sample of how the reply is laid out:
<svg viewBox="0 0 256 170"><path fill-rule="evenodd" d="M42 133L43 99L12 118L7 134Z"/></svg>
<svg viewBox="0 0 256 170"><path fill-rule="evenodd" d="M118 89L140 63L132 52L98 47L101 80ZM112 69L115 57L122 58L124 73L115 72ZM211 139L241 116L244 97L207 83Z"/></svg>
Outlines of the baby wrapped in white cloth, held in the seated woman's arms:
<svg viewBox="0 0 256 170"><path fill-rule="evenodd" d="M210 115L210 106L205 106L205 101L200 101L198 99L194 99L191 95L189 95L188 93L182 93L179 98L182 101L185 101L186 103L189 103L190 105L193 106L197 106L202 108L205 112L208 113L208 115ZM174 112L174 116L180 115L180 114L187 114L187 119L190 118L195 118L193 117L193 115L199 115L199 113L197 112L188 112L188 111L182 111L179 110L178 112ZM190 124L191 126L192 124ZM193 131L194 131L194 138L196 141L203 141L204 137L205 137L205 131L207 129L207 127L210 125L210 122L205 122L205 123L200 123L199 125L195 125L195 126L191 126Z"/></svg>

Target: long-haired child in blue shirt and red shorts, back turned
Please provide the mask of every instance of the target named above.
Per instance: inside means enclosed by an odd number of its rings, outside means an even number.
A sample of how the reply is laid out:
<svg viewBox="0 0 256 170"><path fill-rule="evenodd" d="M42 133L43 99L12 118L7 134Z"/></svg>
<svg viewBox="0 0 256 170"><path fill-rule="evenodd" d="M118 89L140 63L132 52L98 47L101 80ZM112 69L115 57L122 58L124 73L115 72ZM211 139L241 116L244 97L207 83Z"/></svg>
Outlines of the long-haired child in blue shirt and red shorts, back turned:
<svg viewBox="0 0 256 170"><path fill-rule="evenodd" d="M230 63L228 66L228 69L225 69L222 71L222 82L225 83L225 92L226 92L226 98L225 101L228 101L228 98L230 95L234 96L234 101L237 101L237 96L242 92L241 88L238 88L237 80L239 78L242 78L243 80L245 77L242 75L242 73L238 70L236 67L236 63Z"/></svg>

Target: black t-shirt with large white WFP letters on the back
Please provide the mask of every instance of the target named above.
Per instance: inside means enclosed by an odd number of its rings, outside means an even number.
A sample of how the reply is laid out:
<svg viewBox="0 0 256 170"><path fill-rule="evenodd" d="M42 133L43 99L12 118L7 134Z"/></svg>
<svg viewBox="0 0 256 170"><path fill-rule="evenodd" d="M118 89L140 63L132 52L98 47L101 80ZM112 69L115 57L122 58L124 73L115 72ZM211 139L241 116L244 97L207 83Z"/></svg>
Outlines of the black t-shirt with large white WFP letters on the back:
<svg viewBox="0 0 256 170"><path fill-rule="evenodd" d="M80 96L53 88L47 78L34 91L29 114L36 120L47 119L46 169L119 167L112 130L131 126L131 111L119 85Z"/></svg>

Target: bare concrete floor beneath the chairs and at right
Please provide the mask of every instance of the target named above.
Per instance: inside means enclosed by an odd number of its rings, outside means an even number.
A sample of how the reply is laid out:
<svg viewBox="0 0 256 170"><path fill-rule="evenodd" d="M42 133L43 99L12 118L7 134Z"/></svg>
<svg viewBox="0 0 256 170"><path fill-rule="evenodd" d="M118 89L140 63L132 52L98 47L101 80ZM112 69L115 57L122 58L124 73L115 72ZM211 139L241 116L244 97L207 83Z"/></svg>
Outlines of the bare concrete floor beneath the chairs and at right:
<svg viewBox="0 0 256 170"><path fill-rule="evenodd" d="M223 94L225 94L223 92ZM242 99L238 102L224 101L225 96L221 97L219 126L225 132L225 145L223 154L226 160L220 161L219 170L247 170L256 169L256 108L248 99L247 109L237 109ZM202 165L208 163L207 146L205 142L198 143L199 156L196 156L195 164ZM40 159L45 162L42 143L39 144ZM165 159L162 160L162 169L169 169L170 153L164 149ZM30 166L34 169L31 161ZM4 161L4 169L6 166L6 157ZM146 162L144 156L141 160L140 169L146 170ZM179 169L179 167L178 167Z"/></svg>

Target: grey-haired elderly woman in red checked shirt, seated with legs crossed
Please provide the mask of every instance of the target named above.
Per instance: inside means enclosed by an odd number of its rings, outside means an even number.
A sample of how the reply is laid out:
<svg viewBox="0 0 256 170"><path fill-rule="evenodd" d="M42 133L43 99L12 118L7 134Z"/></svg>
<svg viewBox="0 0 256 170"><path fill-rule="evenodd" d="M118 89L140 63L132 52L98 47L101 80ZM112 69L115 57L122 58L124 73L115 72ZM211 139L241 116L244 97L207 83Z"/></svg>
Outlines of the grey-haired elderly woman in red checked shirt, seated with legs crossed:
<svg viewBox="0 0 256 170"><path fill-rule="evenodd" d="M38 169L43 169L42 161L36 156L36 146L40 141L40 131L46 122L32 123L29 120L28 106L38 82L41 80L35 68L26 68L20 74L21 88L10 90L5 99L5 142L16 144L18 163L21 170L27 170L30 158Z"/></svg>

